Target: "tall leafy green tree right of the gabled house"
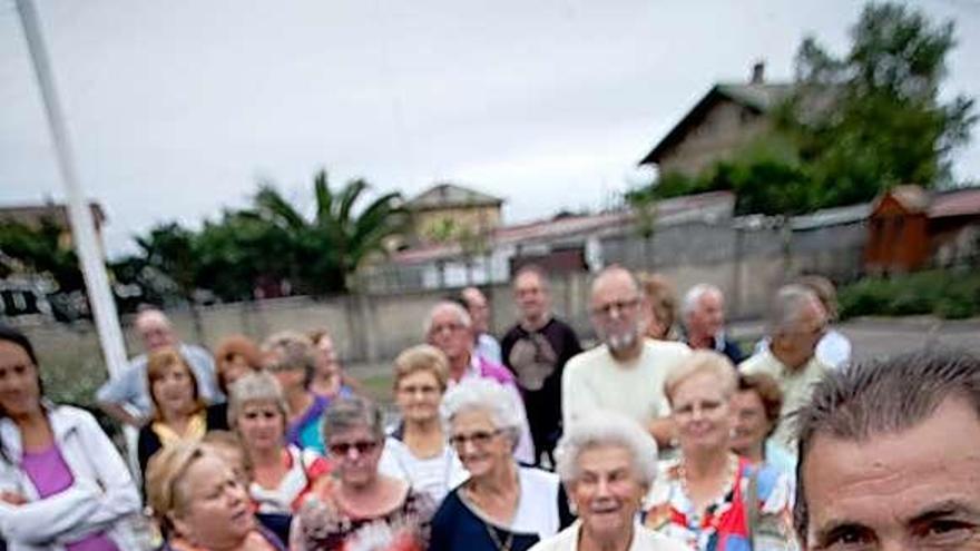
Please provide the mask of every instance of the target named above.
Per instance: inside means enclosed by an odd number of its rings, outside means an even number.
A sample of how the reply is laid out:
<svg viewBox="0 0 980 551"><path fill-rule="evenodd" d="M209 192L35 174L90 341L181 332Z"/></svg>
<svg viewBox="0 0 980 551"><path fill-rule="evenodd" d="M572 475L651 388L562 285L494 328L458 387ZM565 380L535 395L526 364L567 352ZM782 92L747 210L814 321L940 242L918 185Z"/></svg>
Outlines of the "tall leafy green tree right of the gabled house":
<svg viewBox="0 0 980 551"><path fill-rule="evenodd" d="M951 183L951 154L969 140L973 100L940 101L952 21L934 24L898 3L871 3L842 57L807 38L783 130L820 190L820 206L872 199L896 184Z"/></svg>

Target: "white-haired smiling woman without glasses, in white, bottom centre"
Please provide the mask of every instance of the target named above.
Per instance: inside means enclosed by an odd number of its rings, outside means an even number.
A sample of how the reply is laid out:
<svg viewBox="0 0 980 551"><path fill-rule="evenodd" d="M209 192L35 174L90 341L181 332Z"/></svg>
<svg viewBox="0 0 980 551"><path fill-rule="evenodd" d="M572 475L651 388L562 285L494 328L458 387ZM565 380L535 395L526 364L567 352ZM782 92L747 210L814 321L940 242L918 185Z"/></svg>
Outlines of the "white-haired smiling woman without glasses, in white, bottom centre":
<svg viewBox="0 0 980 551"><path fill-rule="evenodd" d="M641 527L637 513L657 476L657 444L636 421L597 411L558 445L558 474L579 520L531 551L685 551Z"/></svg>

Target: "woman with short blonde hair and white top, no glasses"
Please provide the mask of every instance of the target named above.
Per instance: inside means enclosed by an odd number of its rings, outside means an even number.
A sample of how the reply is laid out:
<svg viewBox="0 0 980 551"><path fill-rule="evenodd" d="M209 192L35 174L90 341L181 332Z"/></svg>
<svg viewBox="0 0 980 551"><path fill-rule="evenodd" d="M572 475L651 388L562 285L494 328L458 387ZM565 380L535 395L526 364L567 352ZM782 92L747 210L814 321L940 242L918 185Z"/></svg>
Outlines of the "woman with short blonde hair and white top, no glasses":
<svg viewBox="0 0 980 551"><path fill-rule="evenodd" d="M378 469L442 501L467 472L445 442L439 404L449 380L449 361L439 348L420 344L394 361L394 401L401 422L384 442Z"/></svg>

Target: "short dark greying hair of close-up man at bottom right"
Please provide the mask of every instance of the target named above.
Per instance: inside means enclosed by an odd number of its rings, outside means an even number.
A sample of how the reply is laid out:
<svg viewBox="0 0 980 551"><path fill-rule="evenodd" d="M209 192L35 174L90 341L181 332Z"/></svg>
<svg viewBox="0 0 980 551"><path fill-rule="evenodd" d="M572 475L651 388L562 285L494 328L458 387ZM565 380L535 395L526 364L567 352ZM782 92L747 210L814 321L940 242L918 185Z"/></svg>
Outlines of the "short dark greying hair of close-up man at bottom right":
<svg viewBox="0 0 980 551"><path fill-rule="evenodd" d="M810 511L803 471L820 434L866 442L922 423L950 397L964 400L980 422L980 358L961 350L920 351L830 372L795 412L796 503L793 523L806 538Z"/></svg>

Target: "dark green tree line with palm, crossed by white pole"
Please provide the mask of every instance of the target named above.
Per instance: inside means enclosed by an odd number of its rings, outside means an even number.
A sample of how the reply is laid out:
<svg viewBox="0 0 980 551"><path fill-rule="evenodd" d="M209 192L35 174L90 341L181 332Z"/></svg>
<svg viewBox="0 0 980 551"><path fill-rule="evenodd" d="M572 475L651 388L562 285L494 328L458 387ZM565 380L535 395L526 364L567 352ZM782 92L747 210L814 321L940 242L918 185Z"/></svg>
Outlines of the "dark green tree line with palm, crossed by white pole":
<svg viewBox="0 0 980 551"><path fill-rule="evenodd" d="M275 186L262 184L248 207L225 209L199 230L176 222L158 224L136 236L136 254L109 263L120 309L349 291L357 268L384 255L409 228L402 195L384 193L369 200L370 187L354 179L332 189L321 170L313 180L310 216ZM0 223L0 277L43 274L56 311L66 311L56 315L71 318L68 304L78 301L58 297L81 294L84 303L85 284L74 249L61 243L63 232L50 219L38 227Z"/></svg>

